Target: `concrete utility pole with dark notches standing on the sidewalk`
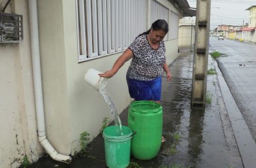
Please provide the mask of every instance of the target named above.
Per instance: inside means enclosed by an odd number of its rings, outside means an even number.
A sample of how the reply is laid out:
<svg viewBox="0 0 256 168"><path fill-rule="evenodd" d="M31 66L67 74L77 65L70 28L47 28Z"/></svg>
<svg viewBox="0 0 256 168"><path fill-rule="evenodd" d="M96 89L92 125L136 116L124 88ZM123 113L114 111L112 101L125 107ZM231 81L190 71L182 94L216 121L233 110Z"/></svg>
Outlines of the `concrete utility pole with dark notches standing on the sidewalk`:
<svg viewBox="0 0 256 168"><path fill-rule="evenodd" d="M210 13L211 0L197 0L191 101L192 105L199 104L205 106L209 54Z"/></svg>

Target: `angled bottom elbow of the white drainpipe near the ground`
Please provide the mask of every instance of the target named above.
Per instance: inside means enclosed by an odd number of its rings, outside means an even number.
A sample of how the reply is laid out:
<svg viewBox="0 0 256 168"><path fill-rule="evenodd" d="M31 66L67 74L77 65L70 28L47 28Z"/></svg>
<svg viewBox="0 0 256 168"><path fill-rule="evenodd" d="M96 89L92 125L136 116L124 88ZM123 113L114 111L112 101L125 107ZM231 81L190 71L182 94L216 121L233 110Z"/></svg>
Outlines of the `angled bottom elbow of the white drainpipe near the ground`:
<svg viewBox="0 0 256 168"><path fill-rule="evenodd" d="M49 143L49 141L46 139L46 136L38 138L39 142L41 143L45 151L51 156L51 158L55 159L56 161L61 161L63 163L71 163L71 156L57 153L57 151L55 151L51 143Z"/></svg>

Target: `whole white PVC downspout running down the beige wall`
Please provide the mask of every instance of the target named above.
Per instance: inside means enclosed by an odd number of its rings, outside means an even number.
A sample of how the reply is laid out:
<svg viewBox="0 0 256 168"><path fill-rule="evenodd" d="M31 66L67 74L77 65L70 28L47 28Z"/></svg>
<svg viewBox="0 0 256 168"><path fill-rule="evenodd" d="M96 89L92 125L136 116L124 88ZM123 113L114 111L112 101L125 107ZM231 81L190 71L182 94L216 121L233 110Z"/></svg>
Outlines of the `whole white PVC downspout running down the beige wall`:
<svg viewBox="0 0 256 168"><path fill-rule="evenodd" d="M69 155L62 155L57 153L57 151L55 151L51 143L49 143L49 141L46 139L45 117L43 110L43 92L41 82L41 66L39 54L39 35L37 24L37 0L29 0L29 23L31 32L31 52L33 63L35 106L37 112L37 130L39 142L41 143L45 151L56 161L71 163L71 157Z"/></svg>

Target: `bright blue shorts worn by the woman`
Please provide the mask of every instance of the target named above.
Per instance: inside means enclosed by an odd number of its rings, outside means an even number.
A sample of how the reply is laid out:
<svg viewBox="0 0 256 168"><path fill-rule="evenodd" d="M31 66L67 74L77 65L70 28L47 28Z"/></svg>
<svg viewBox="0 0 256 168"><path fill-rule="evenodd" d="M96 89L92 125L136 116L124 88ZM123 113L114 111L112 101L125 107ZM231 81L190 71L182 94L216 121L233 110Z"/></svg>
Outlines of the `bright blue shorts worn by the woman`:
<svg viewBox="0 0 256 168"><path fill-rule="evenodd" d="M161 100L161 76L155 80L134 80L126 78L131 98L138 100Z"/></svg>

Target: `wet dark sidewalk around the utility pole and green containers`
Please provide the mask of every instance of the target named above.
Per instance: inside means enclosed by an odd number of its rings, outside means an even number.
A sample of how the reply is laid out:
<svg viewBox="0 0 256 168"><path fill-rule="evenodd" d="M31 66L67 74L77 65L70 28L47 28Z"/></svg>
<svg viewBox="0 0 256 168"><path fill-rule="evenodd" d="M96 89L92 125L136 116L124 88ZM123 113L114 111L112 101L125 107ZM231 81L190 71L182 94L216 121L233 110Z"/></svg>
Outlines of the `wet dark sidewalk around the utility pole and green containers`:
<svg viewBox="0 0 256 168"><path fill-rule="evenodd" d="M181 48L181 55L169 66L173 78L163 76L163 136L157 157L141 161L131 157L129 167L243 167L234 131L225 108L216 74L207 76L205 108L191 106L193 53ZM209 69L215 64L209 58ZM127 126L126 108L120 118ZM89 157L73 158L67 165L49 156L28 167L106 167L102 134L89 145Z"/></svg>

